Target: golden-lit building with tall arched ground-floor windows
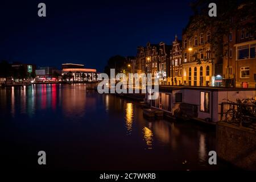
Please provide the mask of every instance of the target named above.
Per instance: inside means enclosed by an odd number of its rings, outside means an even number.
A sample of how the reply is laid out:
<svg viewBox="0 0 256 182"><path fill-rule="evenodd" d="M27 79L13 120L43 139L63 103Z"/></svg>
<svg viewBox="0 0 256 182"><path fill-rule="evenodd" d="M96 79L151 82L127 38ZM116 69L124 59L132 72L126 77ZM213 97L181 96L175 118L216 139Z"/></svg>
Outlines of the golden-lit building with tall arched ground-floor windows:
<svg viewBox="0 0 256 182"><path fill-rule="evenodd" d="M188 26L189 28L189 26ZM187 29L188 30L188 29ZM183 32L183 84L189 86L222 86L222 58L210 43L211 28ZM218 55L218 56L216 56Z"/></svg>

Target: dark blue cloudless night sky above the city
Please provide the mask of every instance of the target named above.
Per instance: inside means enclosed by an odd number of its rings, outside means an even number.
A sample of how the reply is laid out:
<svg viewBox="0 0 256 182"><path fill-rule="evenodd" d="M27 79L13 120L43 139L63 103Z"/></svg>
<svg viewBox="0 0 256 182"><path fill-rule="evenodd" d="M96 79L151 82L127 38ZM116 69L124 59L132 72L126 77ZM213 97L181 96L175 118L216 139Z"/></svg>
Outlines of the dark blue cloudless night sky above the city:
<svg viewBox="0 0 256 182"><path fill-rule="evenodd" d="M46 17L38 3L46 3ZM192 14L185 1L0 1L0 60L60 69L85 64L103 71L113 55L171 44Z"/></svg>

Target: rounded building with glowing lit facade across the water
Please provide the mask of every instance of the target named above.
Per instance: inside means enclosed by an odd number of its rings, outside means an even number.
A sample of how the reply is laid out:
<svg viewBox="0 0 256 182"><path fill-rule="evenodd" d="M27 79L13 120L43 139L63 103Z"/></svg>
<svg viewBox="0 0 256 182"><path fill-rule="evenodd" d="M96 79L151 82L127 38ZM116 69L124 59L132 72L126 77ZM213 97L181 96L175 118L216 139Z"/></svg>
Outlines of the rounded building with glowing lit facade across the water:
<svg viewBox="0 0 256 182"><path fill-rule="evenodd" d="M96 69L85 68L82 64L62 64L61 75L68 81L97 81Z"/></svg>

